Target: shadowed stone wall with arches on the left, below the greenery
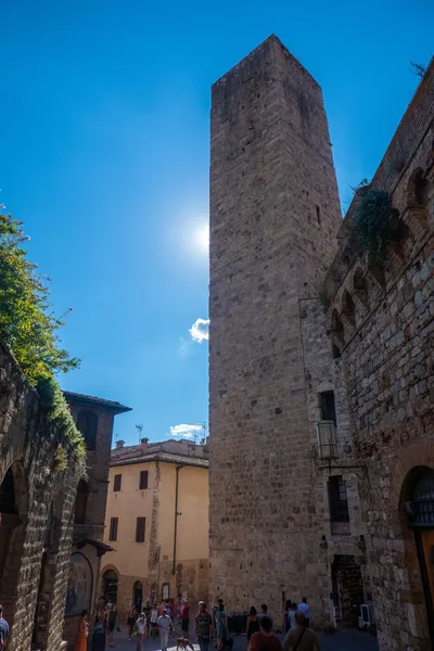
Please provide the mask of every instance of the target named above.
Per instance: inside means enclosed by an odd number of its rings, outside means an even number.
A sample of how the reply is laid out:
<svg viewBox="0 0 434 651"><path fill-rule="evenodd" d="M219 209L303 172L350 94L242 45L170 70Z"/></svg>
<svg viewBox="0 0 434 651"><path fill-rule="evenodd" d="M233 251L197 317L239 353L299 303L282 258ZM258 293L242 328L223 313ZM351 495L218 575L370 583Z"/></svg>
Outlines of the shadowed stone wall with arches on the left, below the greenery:
<svg viewBox="0 0 434 651"><path fill-rule="evenodd" d="M77 480L53 468L68 443L47 420L35 391L0 342L0 602L11 625L10 649L29 651L36 605L48 651L62 640ZM48 576L50 575L50 576ZM47 579L47 580L46 580ZM41 583L40 583L41 582ZM41 598L38 587L44 585Z"/></svg>

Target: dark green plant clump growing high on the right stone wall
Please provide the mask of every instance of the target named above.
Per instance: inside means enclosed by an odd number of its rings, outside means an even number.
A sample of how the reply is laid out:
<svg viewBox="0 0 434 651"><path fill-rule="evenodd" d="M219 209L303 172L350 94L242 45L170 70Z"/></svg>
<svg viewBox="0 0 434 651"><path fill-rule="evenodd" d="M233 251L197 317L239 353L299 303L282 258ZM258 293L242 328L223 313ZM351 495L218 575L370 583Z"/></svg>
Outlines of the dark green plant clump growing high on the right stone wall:
<svg viewBox="0 0 434 651"><path fill-rule="evenodd" d="M353 228L360 250L368 253L369 264L383 268L387 244L394 235L392 202L387 192L370 190L360 197L353 217Z"/></svg>

